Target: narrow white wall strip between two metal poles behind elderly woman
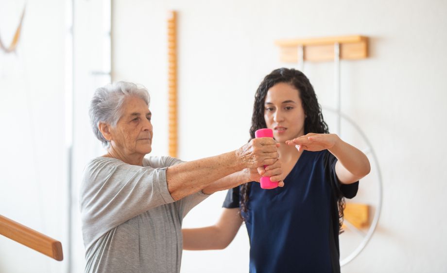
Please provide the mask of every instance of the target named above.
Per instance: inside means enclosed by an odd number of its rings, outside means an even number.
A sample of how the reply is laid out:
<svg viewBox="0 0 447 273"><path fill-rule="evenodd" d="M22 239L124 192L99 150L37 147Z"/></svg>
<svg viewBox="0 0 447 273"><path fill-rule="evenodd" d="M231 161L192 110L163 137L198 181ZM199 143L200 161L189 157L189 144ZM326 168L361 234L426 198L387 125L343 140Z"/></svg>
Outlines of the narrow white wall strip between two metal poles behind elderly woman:
<svg viewBox="0 0 447 273"><path fill-rule="evenodd" d="M110 83L110 0L74 0L73 12L73 158L72 245L70 272L85 270L79 211L82 172L92 158L105 154L93 135L88 108L96 88Z"/></svg>

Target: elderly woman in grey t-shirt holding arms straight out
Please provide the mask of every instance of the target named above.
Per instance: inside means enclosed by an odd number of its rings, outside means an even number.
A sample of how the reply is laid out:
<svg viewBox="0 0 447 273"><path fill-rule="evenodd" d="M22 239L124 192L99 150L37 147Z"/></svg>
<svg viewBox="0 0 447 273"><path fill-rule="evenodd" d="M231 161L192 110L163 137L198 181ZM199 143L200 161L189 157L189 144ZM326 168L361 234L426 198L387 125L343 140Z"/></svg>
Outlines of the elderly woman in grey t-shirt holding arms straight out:
<svg viewBox="0 0 447 273"><path fill-rule="evenodd" d="M144 87L118 82L93 96L91 125L107 154L87 164L81 186L86 272L179 272L182 220L192 207L261 174L283 185L272 138L190 162L146 158L151 116Z"/></svg>

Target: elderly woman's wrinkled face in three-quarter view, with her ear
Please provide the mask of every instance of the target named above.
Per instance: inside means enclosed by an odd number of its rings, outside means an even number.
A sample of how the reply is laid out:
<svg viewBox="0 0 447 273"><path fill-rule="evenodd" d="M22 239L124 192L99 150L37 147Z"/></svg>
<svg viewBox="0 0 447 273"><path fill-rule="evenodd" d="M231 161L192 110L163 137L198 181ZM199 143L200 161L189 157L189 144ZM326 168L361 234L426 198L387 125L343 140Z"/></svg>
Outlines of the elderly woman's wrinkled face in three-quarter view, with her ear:
<svg viewBox="0 0 447 273"><path fill-rule="evenodd" d="M121 118L110 129L114 146L126 155L149 154L152 151L152 114L146 102L129 97L121 109Z"/></svg>

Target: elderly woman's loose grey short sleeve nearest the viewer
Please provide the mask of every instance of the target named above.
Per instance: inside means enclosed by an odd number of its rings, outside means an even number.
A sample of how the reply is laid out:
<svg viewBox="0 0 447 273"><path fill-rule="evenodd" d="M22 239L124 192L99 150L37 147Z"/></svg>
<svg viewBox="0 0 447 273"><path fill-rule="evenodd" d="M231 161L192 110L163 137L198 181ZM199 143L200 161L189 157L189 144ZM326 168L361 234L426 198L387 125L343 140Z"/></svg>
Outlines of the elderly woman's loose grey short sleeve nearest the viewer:
<svg viewBox="0 0 447 273"><path fill-rule="evenodd" d="M151 208L173 202L166 167L155 169L115 158L95 158L87 164L80 188L86 245Z"/></svg>

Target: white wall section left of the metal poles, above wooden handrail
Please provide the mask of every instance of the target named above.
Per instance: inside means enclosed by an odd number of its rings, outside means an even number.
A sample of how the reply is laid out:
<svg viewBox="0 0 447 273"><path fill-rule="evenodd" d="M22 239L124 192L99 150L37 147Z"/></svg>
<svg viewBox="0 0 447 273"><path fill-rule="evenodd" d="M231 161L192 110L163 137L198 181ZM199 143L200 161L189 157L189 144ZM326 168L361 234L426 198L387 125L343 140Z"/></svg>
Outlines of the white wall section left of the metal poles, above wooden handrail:
<svg viewBox="0 0 447 273"><path fill-rule="evenodd" d="M0 214L62 242L67 250L65 1L0 1ZM67 254L67 253L66 253ZM67 257L66 257L67 258ZM0 236L0 272L64 272L58 262Z"/></svg>

